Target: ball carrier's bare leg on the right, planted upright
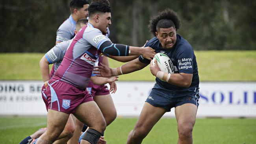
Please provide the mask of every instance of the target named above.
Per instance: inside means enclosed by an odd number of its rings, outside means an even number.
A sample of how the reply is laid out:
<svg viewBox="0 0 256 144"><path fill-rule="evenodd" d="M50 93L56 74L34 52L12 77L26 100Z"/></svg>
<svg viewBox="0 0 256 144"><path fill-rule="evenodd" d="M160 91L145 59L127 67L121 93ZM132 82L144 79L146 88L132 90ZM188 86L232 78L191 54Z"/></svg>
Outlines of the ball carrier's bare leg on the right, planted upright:
<svg viewBox="0 0 256 144"><path fill-rule="evenodd" d="M178 144L192 144L192 131L195 125L197 106L186 103L175 108L178 123Z"/></svg>

